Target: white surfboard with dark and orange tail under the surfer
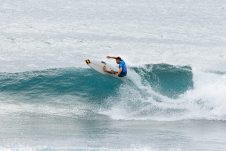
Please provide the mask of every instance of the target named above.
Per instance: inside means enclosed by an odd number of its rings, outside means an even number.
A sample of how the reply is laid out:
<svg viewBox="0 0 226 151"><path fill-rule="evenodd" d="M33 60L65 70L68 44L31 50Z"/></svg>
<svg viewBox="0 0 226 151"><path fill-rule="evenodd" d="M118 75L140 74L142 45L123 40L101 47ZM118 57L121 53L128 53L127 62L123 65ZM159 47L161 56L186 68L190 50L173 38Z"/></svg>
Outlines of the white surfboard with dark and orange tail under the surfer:
<svg viewBox="0 0 226 151"><path fill-rule="evenodd" d="M105 61L97 61L97 60L87 59L87 60L85 60L85 62L90 68L94 69L95 71L97 71L97 72L99 72L101 74L112 76L114 78L119 78L118 76L116 76L113 73L111 74L111 73L108 73L108 72L104 71L104 67L105 67L106 70L108 70L108 71L117 72L116 69L114 69L114 67L110 66Z"/></svg>

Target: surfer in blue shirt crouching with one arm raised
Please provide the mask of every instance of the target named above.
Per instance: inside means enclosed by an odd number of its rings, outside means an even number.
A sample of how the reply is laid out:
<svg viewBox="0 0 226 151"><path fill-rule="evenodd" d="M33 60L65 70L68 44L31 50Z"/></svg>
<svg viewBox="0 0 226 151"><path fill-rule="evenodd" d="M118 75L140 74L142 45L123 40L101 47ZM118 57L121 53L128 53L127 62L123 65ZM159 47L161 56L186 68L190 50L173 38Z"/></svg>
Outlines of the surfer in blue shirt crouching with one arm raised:
<svg viewBox="0 0 226 151"><path fill-rule="evenodd" d="M118 72L114 70L107 70L106 67L104 66L104 72L110 73L110 74L115 74L118 77L125 77L127 75L127 67L125 61L121 59L121 57L111 57L107 56L108 59L115 59L116 63L119 64L119 70Z"/></svg>

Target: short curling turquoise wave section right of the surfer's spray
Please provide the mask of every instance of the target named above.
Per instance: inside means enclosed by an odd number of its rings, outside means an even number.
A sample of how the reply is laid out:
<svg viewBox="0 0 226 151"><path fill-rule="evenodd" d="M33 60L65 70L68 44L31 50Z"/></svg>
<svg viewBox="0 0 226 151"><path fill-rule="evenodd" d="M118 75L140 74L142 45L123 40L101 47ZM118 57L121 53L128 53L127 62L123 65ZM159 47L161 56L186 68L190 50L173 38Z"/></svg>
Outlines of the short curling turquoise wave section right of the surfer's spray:
<svg viewBox="0 0 226 151"><path fill-rule="evenodd" d="M141 76L143 84L150 84L154 90L169 97L176 97L193 87L192 69L189 66L154 64L133 69Z"/></svg>

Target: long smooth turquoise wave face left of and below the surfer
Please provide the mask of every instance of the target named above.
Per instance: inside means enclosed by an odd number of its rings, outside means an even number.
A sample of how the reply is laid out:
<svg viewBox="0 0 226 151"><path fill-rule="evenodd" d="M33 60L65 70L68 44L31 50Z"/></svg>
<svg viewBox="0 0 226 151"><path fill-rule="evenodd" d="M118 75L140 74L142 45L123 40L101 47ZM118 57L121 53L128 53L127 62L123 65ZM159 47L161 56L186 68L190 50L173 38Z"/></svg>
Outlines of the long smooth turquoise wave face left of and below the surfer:
<svg viewBox="0 0 226 151"><path fill-rule="evenodd" d="M91 69L49 69L0 75L1 92L27 96L75 95L89 100L102 100L114 95L120 81Z"/></svg>

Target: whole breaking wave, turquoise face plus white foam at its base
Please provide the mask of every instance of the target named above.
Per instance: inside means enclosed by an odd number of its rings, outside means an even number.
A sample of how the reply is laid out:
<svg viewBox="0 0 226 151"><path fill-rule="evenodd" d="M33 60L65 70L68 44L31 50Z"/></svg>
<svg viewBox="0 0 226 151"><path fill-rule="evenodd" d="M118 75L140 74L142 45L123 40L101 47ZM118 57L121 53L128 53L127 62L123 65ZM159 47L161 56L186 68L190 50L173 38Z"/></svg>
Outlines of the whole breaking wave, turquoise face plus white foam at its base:
<svg viewBox="0 0 226 151"><path fill-rule="evenodd" d="M125 80L87 68L1 73L0 100L1 108L10 109L3 110L4 114L10 115L32 112L85 119L224 120L221 99L211 104L212 95L202 95L208 89L193 81L191 67L168 64L131 67Z"/></svg>

